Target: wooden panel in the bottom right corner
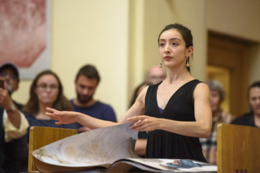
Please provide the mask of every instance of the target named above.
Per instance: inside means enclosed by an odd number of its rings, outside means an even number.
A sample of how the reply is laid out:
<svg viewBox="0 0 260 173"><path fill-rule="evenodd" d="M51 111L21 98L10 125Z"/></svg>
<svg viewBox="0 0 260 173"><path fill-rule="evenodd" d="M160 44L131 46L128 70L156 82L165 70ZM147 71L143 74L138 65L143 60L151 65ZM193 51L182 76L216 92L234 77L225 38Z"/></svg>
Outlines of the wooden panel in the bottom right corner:
<svg viewBox="0 0 260 173"><path fill-rule="evenodd" d="M218 125L218 173L260 172L260 129Z"/></svg>

